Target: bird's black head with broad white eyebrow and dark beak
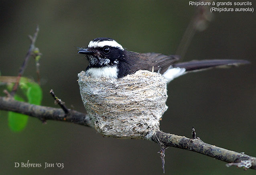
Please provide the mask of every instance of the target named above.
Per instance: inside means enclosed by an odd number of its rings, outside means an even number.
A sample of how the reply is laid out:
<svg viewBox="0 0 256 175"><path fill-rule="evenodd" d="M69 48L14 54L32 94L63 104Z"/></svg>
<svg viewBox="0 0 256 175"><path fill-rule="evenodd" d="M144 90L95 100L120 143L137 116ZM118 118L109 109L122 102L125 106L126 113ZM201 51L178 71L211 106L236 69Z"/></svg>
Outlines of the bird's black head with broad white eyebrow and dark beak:
<svg viewBox="0 0 256 175"><path fill-rule="evenodd" d="M124 48L111 38L95 38L77 53L85 54L91 68L114 66L124 58Z"/></svg>

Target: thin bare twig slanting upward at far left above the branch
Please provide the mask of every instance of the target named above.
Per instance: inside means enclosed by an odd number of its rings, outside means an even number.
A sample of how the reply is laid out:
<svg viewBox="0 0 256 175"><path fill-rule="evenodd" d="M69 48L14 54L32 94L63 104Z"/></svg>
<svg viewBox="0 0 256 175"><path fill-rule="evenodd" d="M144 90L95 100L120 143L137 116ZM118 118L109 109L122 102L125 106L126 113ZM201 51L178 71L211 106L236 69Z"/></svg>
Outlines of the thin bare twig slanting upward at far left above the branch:
<svg viewBox="0 0 256 175"><path fill-rule="evenodd" d="M37 29L36 29L36 32L34 34L34 36L28 36L30 38L30 41L31 41L31 44L29 46L29 49L28 49L28 52L26 53L26 56L25 56L25 59L24 59L24 62L22 64L22 66L20 67L20 70L19 70L19 73L18 73L18 77L17 77L17 80L16 80L16 83L15 85L13 86L12 88L12 91L11 91L11 95L14 96L17 89L18 89L18 85L19 85L19 82L20 82L20 78L21 76L23 75L24 73L24 70L26 69L26 65L28 64L28 60L29 60L29 57L31 56L31 53L33 52L33 49L35 48L35 42L37 40L37 34L39 32L39 26L37 26Z"/></svg>

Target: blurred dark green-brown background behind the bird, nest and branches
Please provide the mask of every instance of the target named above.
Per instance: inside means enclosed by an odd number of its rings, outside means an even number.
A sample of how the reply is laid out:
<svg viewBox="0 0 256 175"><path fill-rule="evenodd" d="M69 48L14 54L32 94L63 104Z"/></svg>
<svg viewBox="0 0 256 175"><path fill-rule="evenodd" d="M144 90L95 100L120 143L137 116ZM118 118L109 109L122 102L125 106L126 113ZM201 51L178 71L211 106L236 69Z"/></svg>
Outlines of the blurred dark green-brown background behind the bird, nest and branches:
<svg viewBox="0 0 256 175"><path fill-rule="evenodd" d="M253 2L252 2L253 3ZM253 3L254 6L254 3ZM255 6L254 6L255 7ZM0 2L0 71L17 76L28 50L28 34L43 53L42 105L54 105L53 89L67 107L85 112L77 73L87 60L76 54L97 37L114 38L134 52L174 54L195 12L189 1L10 1ZM191 73L168 86L168 111L161 130L191 137L194 125L204 142L256 156L256 20L251 12L215 13L207 30L197 32L183 61L245 59L250 65ZM24 76L36 80L30 59ZM1 174L161 174L160 146L144 140L102 137L94 129L73 123L29 117L20 133L8 128L0 113ZM64 163L64 168L14 168L14 162ZM227 168L224 162L169 148L166 174L255 174Z"/></svg>

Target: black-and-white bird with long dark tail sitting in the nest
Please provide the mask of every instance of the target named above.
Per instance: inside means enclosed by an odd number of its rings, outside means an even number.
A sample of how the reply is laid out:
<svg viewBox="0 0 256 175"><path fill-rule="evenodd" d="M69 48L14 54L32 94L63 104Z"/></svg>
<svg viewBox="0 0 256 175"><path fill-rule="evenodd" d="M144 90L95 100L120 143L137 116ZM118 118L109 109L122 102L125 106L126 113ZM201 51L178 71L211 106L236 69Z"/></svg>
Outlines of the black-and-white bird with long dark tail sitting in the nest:
<svg viewBox="0 0 256 175"><path fill-rule="evenodd" d="M95 38L87 48L78 48L78 54L84 54L89 61L85 70L93 78L122 78L138 70L148 70L161 74L167 83L188 72L206 70L215 67L249 64L246 60L193 60L179 63L179 56L155 52L137 53L122 47L111 38Z"/></svg>

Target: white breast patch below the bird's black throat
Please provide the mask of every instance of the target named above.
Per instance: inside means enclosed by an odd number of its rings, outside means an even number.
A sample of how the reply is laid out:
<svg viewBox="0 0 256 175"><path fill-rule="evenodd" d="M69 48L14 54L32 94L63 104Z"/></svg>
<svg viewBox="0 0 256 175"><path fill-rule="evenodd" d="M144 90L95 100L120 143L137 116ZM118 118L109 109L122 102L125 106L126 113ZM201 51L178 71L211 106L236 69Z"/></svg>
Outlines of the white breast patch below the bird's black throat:
<svg viewBox="0 0 256 175"><path fill-rule="evenodd" d="M94 78L109 77L117 78L118 68L117 66L104 66L102 68L89 68L85 74Z"/></svg>

